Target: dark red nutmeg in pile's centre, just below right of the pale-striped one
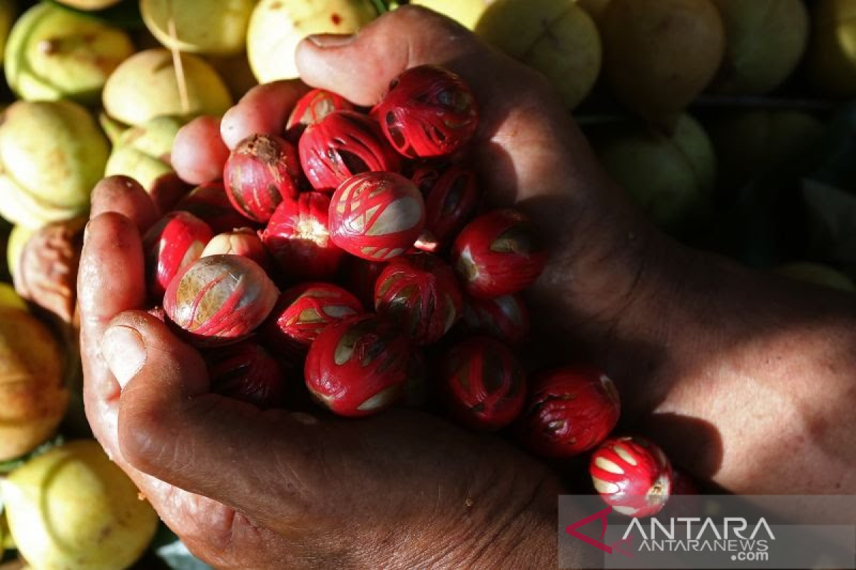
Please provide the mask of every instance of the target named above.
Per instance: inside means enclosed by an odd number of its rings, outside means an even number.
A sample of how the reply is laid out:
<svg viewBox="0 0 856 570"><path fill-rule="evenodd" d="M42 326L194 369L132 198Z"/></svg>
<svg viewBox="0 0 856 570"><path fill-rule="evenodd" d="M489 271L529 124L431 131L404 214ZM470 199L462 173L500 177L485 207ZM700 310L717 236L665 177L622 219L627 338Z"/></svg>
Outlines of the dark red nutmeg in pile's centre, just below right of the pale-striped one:
<svg viewBox="0 0 856 570"><path fill-rule="evenodd" d="M416 344L433 344L461 317L455 272L437 256L415 253L390 261L375 284L377 314L393 321Z"/></svg>

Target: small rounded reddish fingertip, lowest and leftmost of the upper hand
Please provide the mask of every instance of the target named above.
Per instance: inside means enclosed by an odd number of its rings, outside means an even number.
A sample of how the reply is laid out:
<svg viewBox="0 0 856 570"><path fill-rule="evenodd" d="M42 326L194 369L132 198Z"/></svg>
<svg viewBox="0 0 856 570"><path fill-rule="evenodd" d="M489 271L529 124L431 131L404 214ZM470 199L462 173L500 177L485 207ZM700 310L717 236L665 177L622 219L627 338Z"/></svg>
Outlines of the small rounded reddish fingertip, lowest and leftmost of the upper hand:
<svg viewBox="0 0 856 570"><path fill-rule="evenodd" d="M175 135L172 167L189 184L200 185L223 178L227 158L229 148L223 143L217 117L197 117Z"/></svg>

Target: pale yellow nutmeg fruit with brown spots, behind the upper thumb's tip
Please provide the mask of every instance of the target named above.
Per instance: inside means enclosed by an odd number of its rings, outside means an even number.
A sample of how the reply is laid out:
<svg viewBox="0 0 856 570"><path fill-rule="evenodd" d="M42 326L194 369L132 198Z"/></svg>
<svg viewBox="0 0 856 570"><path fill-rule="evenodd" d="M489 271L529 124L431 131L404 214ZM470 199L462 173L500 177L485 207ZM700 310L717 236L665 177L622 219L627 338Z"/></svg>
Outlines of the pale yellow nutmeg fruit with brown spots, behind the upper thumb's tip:
<svg viewBox="0 0 856 570"><path fill-rule="evenodd" d="M294 50L312 33L354 33L377 12L366 0L260 0L250 17L247 56L259 83L294 79Z"/></svg>

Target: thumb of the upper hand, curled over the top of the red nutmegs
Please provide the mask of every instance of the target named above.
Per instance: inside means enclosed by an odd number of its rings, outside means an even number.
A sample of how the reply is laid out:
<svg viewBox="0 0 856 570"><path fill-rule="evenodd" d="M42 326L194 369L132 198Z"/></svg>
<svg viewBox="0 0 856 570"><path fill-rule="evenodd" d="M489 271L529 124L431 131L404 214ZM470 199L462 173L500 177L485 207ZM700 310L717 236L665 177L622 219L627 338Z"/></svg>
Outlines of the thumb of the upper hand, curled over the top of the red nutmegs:
<svg viewBox="0 0 856 570"><path fill-rule="evenodd" d="M457 22L418 6L388 12L355 36L310 36L295 57L308 85L366 106L377 103L389 81L413 66L449 68L478 96L480 88L496 80L491 71L505 71L510 62Z"/></svg>

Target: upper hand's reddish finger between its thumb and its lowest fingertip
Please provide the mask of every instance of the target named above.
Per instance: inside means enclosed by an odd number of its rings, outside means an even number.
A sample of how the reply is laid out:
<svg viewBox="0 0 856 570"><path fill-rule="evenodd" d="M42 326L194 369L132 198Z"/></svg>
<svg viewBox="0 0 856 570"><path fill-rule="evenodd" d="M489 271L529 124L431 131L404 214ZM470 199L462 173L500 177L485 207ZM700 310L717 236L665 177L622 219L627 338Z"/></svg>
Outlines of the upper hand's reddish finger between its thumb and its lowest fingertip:
<svg viewBox="0 0 856 570"><path fill-rule="evenodd" d="M258 85L223 115L220 134L229 149L255 133L282 135L294 103L308 91L296 79Z"/></svg>

